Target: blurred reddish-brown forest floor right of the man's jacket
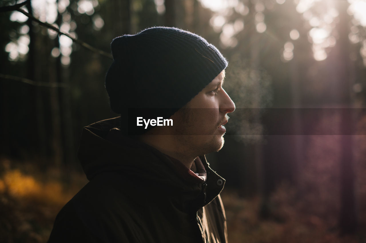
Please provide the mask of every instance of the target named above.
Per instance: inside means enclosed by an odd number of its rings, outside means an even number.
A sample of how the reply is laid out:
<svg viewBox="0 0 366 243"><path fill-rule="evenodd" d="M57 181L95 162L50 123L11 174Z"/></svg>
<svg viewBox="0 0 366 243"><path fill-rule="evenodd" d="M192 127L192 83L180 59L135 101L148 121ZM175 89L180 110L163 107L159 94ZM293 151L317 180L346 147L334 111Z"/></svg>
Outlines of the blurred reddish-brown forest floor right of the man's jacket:
<svg viewBox="0 0 366 243"><path fill-rule="evenodd" d="M281 193L279 193L281 194ZM273 195L277 196L277 195ZM366 232L340 236L336 222L302 213L300 207L271 201L267 216L261 217L259 197L242 198L223 192L228 240L231 243L365 243ZM360 227L362 228L362 227Z"/></svg>

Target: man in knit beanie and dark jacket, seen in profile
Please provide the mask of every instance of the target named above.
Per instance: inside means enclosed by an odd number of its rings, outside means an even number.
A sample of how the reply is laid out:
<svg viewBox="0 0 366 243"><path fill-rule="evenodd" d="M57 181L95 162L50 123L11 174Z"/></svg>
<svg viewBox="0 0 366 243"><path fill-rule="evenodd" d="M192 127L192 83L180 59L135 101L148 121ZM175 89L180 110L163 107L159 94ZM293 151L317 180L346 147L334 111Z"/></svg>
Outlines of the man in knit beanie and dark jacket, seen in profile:
<svg viewBox="0 0 366 243"><path fill-rule="evenodd" d="M84 128L78 156L90 182L49 242L227 242L225 180L205 159L235 109L222 87L227 61L177 28L120 36L111 49L105 86L121 117Z"/></svg>

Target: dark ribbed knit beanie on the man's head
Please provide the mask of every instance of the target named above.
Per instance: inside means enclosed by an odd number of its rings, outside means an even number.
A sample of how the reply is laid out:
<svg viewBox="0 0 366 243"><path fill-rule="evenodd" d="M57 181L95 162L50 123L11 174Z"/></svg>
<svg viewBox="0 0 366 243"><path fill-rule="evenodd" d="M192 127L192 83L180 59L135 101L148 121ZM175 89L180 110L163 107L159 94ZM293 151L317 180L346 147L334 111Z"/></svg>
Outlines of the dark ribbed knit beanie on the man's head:
<svg viewBox="0 0 366 243"><path fill-rule="evenodd" d="M136 117L172 116L228 65L219 50L189 31L153 27L111 43L105 88L114 112L128 113L128 133L143 134ZM151 126L149 126L151 128Z"/></svg>

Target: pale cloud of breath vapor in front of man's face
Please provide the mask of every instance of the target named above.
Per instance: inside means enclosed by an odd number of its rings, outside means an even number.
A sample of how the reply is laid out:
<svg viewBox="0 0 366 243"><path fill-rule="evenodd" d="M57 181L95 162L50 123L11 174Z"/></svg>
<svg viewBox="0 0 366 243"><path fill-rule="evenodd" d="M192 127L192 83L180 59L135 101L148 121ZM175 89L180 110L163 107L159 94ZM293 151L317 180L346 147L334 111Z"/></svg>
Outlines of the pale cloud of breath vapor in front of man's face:
<svg viewBox="0 0 366 243"><path fill-rule="evenodd" d="M249 61L233 56L227 69L225 90L234 101L237 111L229 114L229 134L245 143L262 141L261 116L272 104L272 78L264 69L252 69ZM240 109L256 108L256 109Z"/></svg>

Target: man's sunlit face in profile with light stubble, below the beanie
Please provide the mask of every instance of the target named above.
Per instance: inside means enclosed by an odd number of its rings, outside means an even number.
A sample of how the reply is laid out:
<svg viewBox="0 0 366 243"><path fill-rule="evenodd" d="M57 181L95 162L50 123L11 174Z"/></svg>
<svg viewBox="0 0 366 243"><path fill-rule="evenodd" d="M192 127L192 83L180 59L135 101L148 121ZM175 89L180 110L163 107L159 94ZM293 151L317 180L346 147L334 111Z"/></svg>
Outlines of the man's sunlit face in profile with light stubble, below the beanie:
<svg viewBox="0 0 366 243"><path fill-rule="evenodd" d="M234 102L223 89L224 75L221 72L171 117L183 149L203 155L223 147L223 125L228 121L227 113L235 110Z"/></svg>

